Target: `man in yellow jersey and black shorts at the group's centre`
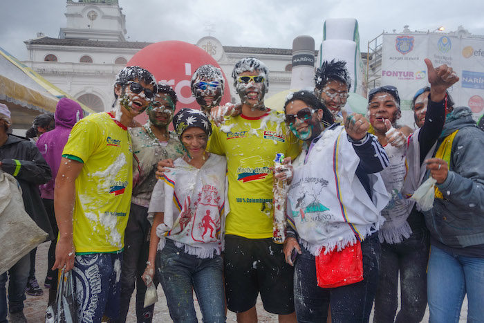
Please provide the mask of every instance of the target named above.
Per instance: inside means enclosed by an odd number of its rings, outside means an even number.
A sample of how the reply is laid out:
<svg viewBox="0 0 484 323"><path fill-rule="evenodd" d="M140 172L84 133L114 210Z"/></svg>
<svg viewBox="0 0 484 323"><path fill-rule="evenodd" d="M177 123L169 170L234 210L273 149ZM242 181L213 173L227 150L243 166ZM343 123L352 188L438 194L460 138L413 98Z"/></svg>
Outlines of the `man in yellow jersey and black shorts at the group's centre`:
<svg viewBox="0 0 484 323"><path fill-rule="evenodd" d="M272 241L272 172L277 153L299 154L286 133L283 116L264 105L268 68L247 57L236 63L232 77L242 113L214 127L209 149L227 158L230 213L225 224L225 293L238 322L257 322L257 295L279 322L296 322L292 267L282 245ZM292 139L292 140L291 140Z"/></svg>

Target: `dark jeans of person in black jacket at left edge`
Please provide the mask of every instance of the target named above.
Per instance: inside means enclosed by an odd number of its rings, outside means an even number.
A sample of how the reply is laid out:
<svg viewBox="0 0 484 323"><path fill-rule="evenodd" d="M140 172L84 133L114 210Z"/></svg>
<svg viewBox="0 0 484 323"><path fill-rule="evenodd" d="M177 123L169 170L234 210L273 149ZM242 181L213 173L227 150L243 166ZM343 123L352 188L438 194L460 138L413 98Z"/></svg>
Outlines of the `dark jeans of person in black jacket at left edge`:
<svg viewBox="0 0 484 323"><path fill-rule="evenodd" d="M25 287L30 271L30 254L25 255L7 273L0 275L0 322L7 322L7 293L5 285L8 283L8 308L10 313L24 310ZM10 276L10 277L8 277Z"/></svg>

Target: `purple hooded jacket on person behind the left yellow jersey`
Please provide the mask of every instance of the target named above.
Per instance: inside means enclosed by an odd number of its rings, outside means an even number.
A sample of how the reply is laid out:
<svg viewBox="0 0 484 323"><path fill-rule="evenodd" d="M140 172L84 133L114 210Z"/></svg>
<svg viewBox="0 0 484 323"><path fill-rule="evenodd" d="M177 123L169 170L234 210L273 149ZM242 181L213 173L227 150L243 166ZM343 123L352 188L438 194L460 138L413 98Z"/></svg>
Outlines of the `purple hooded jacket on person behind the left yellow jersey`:
<svg viewBox="0 0 484 323"><path fill-rule="evenodd" d="M74 124L84 117L79 103L62 98L55 108L55 129L48 131L37 140L37 148L52 169L52 179L40 185L42 199L54 199L55 176L59 171L62 150L67 143Z"/></svg>

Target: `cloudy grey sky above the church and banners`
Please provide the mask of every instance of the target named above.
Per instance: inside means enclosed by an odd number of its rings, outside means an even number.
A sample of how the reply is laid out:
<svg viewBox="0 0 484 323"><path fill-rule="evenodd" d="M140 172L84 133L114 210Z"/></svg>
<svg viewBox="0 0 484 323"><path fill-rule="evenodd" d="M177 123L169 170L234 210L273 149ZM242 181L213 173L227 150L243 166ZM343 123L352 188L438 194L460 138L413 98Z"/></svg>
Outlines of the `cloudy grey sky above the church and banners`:
<svg viewBox="0 0 484 323"><path fill-rule="evenodd" d="M484 1L404 0L119 0L126 15L130 41L181 40L195 44L208 35L226 46L291 48L292 39L310 35L316 47L328 18L355 18L360 26L360 50L382 31L457 30L484 35ZM23 41L42 32L58 37L66 26L66 0L0 0L0 47L27 59Z"/></svg>

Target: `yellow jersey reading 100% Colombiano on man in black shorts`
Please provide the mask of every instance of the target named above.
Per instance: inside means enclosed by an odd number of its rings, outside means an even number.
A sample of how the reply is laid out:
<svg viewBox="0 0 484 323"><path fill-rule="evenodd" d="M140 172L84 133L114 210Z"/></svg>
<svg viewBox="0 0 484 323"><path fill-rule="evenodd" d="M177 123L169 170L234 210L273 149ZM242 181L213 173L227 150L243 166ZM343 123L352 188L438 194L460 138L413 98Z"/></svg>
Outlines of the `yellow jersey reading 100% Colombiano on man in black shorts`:
<svg viewBox="0 0 484 323"><path fill-rule="evenodd" d="M277 153L294 160L299 140L286 133L277 111L259 118L236 116L214 127L209 150L227 158L230 212L225 234L248 239L272 237L272 172Z"/></svg>

